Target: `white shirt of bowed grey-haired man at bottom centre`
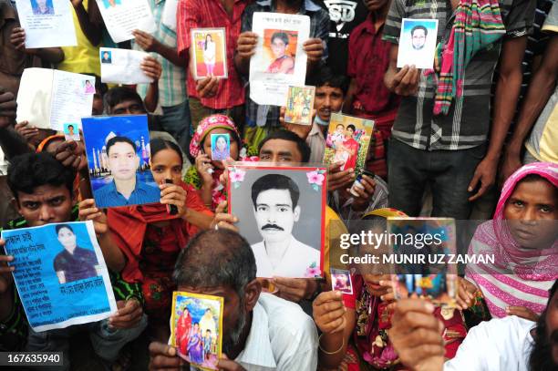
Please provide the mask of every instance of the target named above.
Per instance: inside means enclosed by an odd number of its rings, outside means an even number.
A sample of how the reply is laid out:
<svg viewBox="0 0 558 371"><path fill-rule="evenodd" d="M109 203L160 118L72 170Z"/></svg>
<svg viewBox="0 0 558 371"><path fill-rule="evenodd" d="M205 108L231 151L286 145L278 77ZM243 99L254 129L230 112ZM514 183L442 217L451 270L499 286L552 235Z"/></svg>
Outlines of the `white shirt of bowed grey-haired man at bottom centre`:
<svg viewBox="0 0 558 371"><path fill-rule="evenodd" d="M314 371L317 337L314 321L298 304L263 293L253 308L246 345L234 361L248 371Z"/></svg>

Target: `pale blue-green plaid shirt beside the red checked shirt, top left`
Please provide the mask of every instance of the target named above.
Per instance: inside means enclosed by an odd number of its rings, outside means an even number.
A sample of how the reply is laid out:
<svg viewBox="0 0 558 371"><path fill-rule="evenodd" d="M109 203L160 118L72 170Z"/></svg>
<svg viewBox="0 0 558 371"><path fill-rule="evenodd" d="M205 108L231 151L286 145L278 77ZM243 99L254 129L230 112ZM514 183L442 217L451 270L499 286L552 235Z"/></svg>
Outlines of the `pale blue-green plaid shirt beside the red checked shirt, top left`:
<svg viewBox="0 0 558 371"><path fill-rule="evenodd" d="M162 24L162 13L165 0L148 0L155 18L157 29L152 34L161 44L176 49L176 32ZM134 50L143 50L132 40ZM157 53L151 53L151 57L157 59L162 67L159 79L159 103L161 107L178 106L186 100L187 92L184 80L186 80L186 68L175 66L169 59ZM147 94L148 84L138 85L138 93L142 98Z"/></svg>

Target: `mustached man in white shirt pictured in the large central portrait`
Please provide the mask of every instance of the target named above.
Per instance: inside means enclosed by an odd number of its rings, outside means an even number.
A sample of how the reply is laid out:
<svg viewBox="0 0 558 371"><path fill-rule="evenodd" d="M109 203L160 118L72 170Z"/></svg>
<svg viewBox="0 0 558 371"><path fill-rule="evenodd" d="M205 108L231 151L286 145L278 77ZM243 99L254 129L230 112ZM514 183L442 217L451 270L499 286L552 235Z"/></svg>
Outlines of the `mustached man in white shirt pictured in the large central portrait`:
<svg viewBox="0 0 558 371"><path fill-rule="evenodd" d="M319 266L320 251L293 236L301 207L300 191L294 180L281 174L267 174L253 182L253 213L262 242L252 245L257 277L304 277L308 266Z"/></svg>

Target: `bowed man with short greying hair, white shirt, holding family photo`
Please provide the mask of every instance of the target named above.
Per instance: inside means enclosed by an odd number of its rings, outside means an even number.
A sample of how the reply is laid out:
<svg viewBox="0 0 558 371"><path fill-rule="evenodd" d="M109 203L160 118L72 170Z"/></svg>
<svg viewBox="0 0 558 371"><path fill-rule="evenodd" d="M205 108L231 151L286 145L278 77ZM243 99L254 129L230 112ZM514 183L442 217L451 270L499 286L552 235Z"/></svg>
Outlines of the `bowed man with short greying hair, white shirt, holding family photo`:
<svg viewBox="0 0 558 371"><path fill-rule="evenodd" d="M296 304L262 293L252 249L236 232L201 232L181 251L179 291L224 298L219 369L315 370L317 333ZM150 370L179 370L176 349L150 344Z"/></svg>

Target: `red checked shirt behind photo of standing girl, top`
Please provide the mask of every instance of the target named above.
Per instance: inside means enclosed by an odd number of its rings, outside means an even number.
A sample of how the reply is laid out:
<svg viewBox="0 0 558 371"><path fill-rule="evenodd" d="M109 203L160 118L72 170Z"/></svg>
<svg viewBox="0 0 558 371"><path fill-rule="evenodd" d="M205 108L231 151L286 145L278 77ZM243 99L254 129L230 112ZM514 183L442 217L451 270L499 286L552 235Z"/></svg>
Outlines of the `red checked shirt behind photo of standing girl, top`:
<svg viewBox="0 0 558 371"><path fill-rule="evenodd" d="M233 108L244 103L244 85L234 67L234 51L241 34L241 18L250 0L235 0L233 14L229 15L220 0L181 0L177 17L178 52L188 56L192 28L221 28L226 35L226 54L228 77L219 81L214 98L200 98L202 105L213 109ZM188 94L198 98L196 82L188 74Z"/></svg>

